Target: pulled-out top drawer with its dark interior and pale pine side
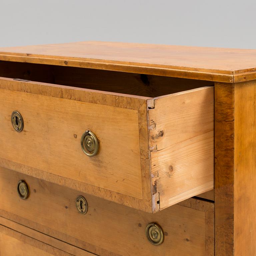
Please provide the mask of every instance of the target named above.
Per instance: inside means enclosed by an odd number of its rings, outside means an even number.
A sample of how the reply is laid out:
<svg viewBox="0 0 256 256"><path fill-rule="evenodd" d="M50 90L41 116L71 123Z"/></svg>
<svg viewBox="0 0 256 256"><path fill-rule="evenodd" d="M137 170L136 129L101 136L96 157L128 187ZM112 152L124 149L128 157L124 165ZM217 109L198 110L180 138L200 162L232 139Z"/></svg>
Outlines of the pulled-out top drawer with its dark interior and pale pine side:
<svg viewBox="0 0 256 256"><path fill-rule="evenodd" d="M0 70L3 167L147 212L213 189L209 82L8 61Z"/></svg>

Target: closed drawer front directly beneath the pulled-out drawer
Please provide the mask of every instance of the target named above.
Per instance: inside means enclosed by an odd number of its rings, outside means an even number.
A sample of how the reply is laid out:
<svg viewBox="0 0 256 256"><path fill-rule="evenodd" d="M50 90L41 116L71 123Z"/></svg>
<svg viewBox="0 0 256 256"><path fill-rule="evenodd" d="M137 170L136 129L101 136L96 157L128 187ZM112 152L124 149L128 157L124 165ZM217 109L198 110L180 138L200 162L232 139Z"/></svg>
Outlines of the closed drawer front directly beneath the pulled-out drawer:
<svg viewBox="0 0 256 256"><path fill-rule="evenodd" d="M17 194L19 180L29 187L26 200ZM98 255L214 255L212 202L191 198L151 214L5 168L0 193L2 217ZM84 215L75 206L78 195L88 203ZM147 240L149 223L161 226L162 244Z"/></svg>

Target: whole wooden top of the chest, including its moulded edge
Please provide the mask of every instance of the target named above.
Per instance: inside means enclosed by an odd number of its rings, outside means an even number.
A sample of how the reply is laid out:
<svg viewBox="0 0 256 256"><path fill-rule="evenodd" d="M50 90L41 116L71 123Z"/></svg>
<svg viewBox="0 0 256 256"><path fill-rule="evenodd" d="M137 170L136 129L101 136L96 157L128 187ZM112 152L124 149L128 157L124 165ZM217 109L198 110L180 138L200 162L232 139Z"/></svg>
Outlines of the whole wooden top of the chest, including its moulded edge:
<svg viewBox="0 0 256 256"><path fill-rule="evenodd" d="M219 82L256 78L256 50L77 42L0 48L0 60Z"/></svg>

